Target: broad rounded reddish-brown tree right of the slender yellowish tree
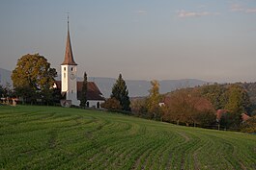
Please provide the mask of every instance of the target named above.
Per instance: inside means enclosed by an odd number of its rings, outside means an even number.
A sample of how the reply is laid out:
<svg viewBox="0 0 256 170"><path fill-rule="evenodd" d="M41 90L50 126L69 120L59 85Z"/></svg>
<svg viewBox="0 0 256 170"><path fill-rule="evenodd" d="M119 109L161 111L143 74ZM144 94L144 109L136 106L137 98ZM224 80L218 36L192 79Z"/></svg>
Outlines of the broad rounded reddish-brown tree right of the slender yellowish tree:
<svg viewBox="0 0 256 170"><path fill-rule="evenodd" d="M215 120L213 105L194 89L177 90L165 99L163 120L209 126Z"/></svg>

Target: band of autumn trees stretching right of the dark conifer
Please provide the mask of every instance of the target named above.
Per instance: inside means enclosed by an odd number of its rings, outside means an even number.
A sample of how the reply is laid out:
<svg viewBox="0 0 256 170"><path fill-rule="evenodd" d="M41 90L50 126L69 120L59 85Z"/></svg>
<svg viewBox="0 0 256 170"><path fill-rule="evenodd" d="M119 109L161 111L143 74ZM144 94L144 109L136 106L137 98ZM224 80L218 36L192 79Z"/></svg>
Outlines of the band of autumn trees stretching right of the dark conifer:
<svg viewBox="0 0 256 170"><path fill-rule="evenodd" d="M146 98L134 99L134 115L186 126L240 130L245 124L242 113L254 115L254 108L242 84L202 85L159 94L159 85L152 81ZM220 119L216 111L225 110Z"/></svg>

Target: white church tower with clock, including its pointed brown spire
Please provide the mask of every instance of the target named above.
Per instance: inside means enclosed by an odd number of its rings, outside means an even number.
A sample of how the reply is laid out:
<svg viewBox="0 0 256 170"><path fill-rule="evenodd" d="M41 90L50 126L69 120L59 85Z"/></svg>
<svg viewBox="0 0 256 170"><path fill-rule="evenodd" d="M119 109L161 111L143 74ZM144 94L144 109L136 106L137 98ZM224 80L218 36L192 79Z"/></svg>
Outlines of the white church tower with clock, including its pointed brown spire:
<svg viewBox="0 0 256 170"><path fill-rule="evenodd" d="M65 59L61 64L62 93L66 93L66 100L71 100L71 105L79 106L77 100L77 64L73 60L71 49L70 25L68 16L68 36L66 42Z"/></svg>

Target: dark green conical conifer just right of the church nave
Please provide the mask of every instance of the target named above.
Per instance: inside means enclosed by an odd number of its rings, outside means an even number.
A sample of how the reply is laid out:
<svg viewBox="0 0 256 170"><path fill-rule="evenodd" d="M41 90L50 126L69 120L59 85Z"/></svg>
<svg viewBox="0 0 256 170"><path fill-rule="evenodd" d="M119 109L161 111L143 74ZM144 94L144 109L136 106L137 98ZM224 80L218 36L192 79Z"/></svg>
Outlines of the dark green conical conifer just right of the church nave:
<svg viewBox="0 0 256 170"><path fill-rule="evenodd" d="M122 74L119 74L119 78L116 81L116 84L112 87L112 94L111 98L115 98L120 102L122 110L130 110L129 104L129 97L128 97L128 87L126 82L122 78Z"/></svg>

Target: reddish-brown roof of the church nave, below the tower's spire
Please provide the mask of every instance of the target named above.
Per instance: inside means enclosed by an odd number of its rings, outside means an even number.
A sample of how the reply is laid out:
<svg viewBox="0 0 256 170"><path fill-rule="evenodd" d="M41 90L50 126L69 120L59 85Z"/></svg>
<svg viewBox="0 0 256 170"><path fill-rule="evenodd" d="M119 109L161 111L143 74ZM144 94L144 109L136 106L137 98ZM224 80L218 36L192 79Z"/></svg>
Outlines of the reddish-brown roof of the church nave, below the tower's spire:
<svg viewBox="0 0 256 170"><path fill-rule="evenodd" d="M55 81L57 88L61 89L61 81ZM77 99L81 99L83 82L77 82ZM87 100L105 100L99 87L94 82L87 83Z"/></svg>

